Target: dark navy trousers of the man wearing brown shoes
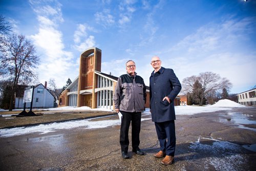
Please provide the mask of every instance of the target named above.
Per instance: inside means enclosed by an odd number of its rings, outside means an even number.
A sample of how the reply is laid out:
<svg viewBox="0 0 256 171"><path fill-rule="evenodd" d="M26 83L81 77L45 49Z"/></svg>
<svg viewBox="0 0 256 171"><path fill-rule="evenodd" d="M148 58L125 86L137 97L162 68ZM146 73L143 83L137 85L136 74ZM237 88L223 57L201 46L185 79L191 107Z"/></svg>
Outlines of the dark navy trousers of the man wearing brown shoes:
<svg viewBox="0 0 256 171"><path fill-rule="evenodd" d="M174 120L166 122L155 122L157 137L160 143L160 150L168 156L174 156L176 146Z"/></svg>

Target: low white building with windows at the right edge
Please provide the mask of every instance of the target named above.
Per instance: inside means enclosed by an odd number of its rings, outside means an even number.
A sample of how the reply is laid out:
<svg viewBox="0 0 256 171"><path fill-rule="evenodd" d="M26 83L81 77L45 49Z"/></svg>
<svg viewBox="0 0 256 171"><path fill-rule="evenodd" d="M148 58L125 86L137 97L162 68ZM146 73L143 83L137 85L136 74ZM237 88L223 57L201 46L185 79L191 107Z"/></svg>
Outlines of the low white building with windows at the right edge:
<svg viewBox="0 0 256 171"><path fill-rule="evenodd" d="M256 105L256 89L252 89L240 94L238 96L238 103L243 105Z"/></svg>

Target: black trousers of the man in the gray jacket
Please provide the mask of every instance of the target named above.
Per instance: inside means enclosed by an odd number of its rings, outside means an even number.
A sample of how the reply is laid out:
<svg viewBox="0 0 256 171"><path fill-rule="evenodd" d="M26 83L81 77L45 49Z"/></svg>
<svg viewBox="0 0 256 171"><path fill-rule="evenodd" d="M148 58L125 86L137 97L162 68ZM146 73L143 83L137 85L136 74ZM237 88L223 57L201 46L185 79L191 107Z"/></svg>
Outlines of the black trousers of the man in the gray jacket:
<svg viewBox="0 0 256 171"><path fill-rule="evenodd" d="M127 152L129 147L129 127L132 121L132 146L133 149L139 149L140 144L140 122L141 122L141 112L123 112L121 128L120 128L120 145L121 151Z"/></svg>

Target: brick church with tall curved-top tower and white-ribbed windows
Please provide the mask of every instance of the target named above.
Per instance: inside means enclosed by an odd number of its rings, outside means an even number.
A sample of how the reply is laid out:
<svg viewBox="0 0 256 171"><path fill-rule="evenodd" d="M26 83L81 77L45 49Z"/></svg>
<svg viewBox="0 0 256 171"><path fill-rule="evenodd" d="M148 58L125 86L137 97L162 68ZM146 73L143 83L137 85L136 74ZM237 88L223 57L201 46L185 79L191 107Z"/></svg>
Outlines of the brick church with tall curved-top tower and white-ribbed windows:
<svg viewBox="0 0 256 171"><path fill-rule="evenodd" d="M118 77L101 72L101 50L90 48L80 55L79 76L61 93L61 106L89 106L114 110L113 94ZM147 87L145 108L150 107L150 91ZM175 104L179 105L180 98Z"/></svg>

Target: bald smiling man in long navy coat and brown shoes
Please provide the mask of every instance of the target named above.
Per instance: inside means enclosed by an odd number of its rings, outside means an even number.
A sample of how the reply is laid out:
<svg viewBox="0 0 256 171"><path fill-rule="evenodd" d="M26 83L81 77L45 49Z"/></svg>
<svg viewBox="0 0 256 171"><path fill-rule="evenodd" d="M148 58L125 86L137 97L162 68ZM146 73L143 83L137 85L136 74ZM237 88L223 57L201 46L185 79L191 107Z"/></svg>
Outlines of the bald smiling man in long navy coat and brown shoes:
<svg viewBox="0 0 256 171"><path fill-rule="evenodd" d="M150 108L155 122L160 151L156 158L165 157L161 163L174 162L176 146L174 100L181 90L181 84L172 69L161 67L161 60L154 56L151 60L154 71L150 77Z"/></svg>

